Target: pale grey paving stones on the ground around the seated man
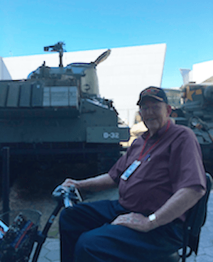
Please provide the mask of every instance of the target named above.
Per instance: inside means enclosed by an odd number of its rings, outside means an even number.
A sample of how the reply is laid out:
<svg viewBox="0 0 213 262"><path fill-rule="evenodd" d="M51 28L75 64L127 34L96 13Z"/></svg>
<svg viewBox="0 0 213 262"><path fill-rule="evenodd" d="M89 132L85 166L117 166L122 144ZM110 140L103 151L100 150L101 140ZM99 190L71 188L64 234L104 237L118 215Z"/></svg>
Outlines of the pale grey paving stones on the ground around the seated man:
<svg viewBox="0 0 213 262"><path fill-rule="evenodd" d="M111 192L92 196L88 201L96 200L97 198L107 197L109 199L116 198L116 193ZM196 258L197 262L212 262L213 261L213 190L209 195L208 211L207 211L207 221L202 228L202 233L200 236L200 247L198 251L198 256ZM60 262L60 249L59 249L59 239L46 239L43 244L43 248L40 252L38 262ZM195 261L195 256L187 258L187 262Z"/></svg>

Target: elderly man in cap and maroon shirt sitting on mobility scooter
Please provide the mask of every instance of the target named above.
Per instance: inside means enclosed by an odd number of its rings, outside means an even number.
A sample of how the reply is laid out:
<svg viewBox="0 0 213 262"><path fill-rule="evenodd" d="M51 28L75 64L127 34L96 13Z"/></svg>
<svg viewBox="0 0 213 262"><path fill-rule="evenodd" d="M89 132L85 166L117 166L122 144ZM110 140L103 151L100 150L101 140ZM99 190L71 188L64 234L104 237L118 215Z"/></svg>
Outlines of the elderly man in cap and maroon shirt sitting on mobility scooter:
<svg viewBox="0 0 213 262"><path fill-rule="evenodd" d="M62 211L62 262L150 261L180 248L185 212L206 190L200 145L190 129L170 121L163 89L148 87L137 104L148 131L109 173L62 183L89 190L119 187L119 200Z"/></svg>

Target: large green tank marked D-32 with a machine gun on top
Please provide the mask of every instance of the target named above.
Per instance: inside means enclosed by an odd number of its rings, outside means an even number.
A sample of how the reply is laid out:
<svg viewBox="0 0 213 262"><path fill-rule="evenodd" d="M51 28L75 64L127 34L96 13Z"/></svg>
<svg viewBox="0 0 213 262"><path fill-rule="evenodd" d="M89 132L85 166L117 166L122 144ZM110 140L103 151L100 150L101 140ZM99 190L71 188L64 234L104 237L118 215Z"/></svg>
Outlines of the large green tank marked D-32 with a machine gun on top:
<svg viewBox="0 0 213 262"><path fill-rule="evenodd" d="M26 80L0 81L1 148L9 146L12 176L23 180L107 172L129 139L113 102L99 95L96 67L111 51L63 67L63 45L44 48L59 53L59 67L44 62Z"/></svg>

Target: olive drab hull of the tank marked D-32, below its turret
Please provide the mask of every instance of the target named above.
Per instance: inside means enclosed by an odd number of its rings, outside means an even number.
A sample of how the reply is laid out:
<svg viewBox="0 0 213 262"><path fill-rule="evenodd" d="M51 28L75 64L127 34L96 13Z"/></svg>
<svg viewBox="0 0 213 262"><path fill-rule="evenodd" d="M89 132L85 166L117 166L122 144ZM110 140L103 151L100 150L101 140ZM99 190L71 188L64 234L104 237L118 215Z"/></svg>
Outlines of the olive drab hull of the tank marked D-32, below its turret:
<svg viewBox="0 0 213 262"><path fill-rule="evenodd" d="M119 143L128 138L109 102L82 98L76 86L8 81L0 83L0 97L0 143Z"/></svg>

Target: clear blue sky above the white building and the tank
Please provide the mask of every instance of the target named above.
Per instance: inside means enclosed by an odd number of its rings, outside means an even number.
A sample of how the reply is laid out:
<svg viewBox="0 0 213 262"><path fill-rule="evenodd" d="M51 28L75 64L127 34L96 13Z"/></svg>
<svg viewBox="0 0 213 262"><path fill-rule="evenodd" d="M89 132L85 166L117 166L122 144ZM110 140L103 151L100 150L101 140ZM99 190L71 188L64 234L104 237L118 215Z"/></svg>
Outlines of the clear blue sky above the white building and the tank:
<svg viewBox="0 0 213 262"><path fill-rule="evenodd" d="M0 56L166 43L162 87L180 87L180 68L213 60L213 1L1 0ZM213 72L212 72L213 75Z"/></svg>

